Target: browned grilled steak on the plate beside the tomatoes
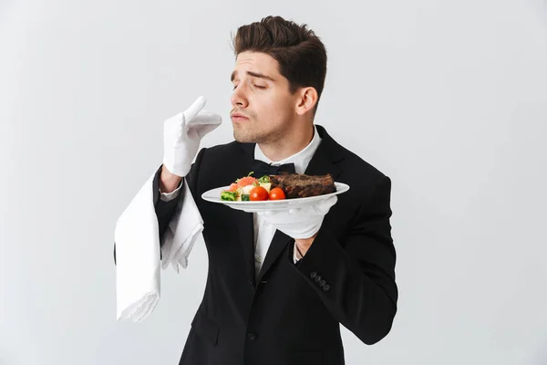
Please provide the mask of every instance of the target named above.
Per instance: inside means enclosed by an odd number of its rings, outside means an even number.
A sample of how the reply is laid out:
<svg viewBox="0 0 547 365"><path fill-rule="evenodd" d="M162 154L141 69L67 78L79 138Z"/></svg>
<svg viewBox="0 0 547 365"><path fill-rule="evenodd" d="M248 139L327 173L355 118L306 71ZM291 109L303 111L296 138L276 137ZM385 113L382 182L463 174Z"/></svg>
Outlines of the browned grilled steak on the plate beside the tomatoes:
<svg viewBox="0 0 547 365"><path fill-rule="evenodd" d="M272 189L281 188L287 199L335 193L335 179L326 175L306 175L304 173L282 173L271 175Z"/></svg>

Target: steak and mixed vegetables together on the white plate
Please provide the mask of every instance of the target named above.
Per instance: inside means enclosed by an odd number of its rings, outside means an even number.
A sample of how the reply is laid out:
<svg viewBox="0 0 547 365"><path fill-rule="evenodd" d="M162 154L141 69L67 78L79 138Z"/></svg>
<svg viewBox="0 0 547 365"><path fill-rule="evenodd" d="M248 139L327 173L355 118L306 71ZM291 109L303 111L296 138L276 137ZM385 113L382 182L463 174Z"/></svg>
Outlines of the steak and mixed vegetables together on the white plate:
<svg viewBox="0 0 547 365"><path fill-rule="evenodd" d="M260 178L247 176L237 179L227 189L222 189L221 200L225 202L263 202L284 199L306 198L336 192L330 174L306 175L304 173L281 173L263 175Z"/></svg>

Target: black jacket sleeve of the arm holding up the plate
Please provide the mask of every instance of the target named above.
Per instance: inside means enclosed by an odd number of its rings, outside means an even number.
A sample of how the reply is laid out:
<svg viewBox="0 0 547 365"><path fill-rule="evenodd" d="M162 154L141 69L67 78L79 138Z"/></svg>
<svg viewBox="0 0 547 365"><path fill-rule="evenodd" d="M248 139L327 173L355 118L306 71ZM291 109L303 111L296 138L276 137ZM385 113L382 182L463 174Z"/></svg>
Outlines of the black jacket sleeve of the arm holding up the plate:
<svg viewBox="0 0 547 365"><path fill-rule="evenodd" d="M350 222L345 242L321 228L294 266L332 315L368 345L387 335L397 312L390 191L383 176Z"/></svg>

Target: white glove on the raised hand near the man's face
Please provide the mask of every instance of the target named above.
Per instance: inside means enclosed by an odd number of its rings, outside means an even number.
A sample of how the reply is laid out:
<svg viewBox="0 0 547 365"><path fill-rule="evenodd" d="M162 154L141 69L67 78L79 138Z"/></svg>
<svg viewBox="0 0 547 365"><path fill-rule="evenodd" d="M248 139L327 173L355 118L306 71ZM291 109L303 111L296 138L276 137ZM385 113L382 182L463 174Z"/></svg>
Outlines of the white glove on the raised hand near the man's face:
<svg viewBox="0 0 547 365"><path fill-rule="evenodd" d="M163 164L172 174L184 177L190 172L201 138L222 123L220 115L202 110L205 102L200 97L190 108L163 122Z"/></svg>

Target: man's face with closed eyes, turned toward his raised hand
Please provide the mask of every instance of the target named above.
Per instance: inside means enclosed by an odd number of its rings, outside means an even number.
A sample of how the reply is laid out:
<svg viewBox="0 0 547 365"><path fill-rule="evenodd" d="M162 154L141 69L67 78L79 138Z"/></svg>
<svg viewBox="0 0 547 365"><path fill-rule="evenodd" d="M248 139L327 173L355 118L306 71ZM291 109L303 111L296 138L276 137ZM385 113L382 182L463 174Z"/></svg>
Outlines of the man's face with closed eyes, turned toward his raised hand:
<svg viewBox="0 0 547 365"><path fill-rule="evenodd" d="M299 93L291 94L289 81L278 63L263 53L242 52L232 72L232 126L236 141L275 143L290 133L297 116Z"/></svg>

